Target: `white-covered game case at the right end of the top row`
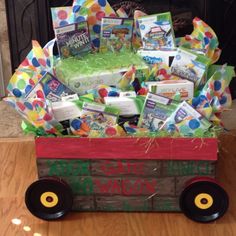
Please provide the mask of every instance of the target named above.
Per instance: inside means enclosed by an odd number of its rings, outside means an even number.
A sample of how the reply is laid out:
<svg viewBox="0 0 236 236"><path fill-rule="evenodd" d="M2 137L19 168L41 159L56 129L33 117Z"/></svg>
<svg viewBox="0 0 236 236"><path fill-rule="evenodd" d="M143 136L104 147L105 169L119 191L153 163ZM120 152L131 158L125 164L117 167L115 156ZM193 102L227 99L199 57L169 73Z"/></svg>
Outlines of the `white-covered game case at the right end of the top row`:
<svg viewBox="0 0 236 236"><path fill-rule="evenodd" d="M144 49L174 49L175 36L170 12L142 16L138 24Z"/></svg>

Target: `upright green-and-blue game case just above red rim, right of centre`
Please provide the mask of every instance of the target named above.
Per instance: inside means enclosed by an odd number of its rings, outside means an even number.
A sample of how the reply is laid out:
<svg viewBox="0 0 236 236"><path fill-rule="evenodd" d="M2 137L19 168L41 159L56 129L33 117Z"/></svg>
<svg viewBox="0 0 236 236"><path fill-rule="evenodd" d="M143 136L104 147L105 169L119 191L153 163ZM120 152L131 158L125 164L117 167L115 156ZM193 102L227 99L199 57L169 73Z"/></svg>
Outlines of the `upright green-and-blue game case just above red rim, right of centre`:
<svg viewBox="0 0 236 236"><path fill-rule="evenodd" d="M140 115L138 126L158 131L167 118L176 110L178 102L167 97L148 93Z"/></svg>

